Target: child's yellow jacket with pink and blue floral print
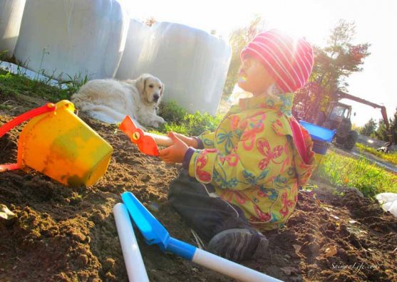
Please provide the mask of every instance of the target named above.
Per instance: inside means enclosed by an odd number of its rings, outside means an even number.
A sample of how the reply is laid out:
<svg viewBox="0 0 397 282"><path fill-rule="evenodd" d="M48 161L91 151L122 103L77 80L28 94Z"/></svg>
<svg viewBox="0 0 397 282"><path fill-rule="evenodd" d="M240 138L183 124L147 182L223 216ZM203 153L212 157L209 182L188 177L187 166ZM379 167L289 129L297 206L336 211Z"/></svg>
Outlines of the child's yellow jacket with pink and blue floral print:
<svg viewBox="0 0 397 282"><path fill-rule="evenodd" d="M236 204L258 229L282 226L297 203L298 187L314 169L313 143L302 127L306 163L294 146L290 125L293 93L239 100L215 132L198 138L188 162L189 174L212 184L227 202Z"/></svg>

